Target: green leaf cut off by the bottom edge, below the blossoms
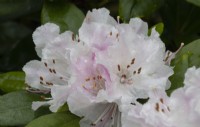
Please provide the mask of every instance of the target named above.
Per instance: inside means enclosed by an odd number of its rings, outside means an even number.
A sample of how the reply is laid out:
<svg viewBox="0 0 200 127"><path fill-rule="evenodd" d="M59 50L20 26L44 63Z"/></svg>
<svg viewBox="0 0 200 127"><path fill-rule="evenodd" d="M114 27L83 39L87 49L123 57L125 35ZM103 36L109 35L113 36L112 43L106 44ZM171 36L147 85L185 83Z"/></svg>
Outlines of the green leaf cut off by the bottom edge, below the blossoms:
<svg viewBox="0 0 200 127"><path fill-rule="evenodd" d="M26 127L79 127L80 118L68 112L41 116Z"/></svg>

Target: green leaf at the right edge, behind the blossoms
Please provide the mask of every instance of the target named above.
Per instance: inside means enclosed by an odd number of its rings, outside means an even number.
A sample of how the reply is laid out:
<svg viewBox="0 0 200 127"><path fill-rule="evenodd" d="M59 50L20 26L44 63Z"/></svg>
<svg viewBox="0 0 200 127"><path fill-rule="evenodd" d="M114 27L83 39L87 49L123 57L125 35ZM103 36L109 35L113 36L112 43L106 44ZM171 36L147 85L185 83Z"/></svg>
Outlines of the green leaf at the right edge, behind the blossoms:
<svg viewBox="0 0 200 127"><path fill-rule="evenodd" d="M174 75L170 77L171 88L167 91L170 94L173 90L182 87L185 72L189 67L200 67L200 39L182 48L172 62Z"/></svg>

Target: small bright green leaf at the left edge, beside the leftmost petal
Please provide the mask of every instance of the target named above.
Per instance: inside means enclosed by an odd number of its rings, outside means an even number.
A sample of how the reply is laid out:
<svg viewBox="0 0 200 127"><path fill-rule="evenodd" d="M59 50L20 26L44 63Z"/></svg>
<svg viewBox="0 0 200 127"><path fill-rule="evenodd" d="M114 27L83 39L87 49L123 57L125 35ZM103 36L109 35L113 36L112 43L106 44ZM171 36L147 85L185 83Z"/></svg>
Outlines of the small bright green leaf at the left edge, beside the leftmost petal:
<svg viewBox="0 0 200 127"><path fill-rule="evenodd" d="M12 92L17 90L25 90L24 72L8 72L0 74L0 90L3 92Z"/></svg>

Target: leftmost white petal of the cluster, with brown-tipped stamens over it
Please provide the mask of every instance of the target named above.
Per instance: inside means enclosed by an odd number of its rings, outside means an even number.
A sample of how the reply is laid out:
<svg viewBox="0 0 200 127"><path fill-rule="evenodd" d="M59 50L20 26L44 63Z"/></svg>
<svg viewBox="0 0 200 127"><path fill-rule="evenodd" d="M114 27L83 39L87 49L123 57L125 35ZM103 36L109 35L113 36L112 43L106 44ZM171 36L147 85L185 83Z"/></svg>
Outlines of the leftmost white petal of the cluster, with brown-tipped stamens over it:
<svg viewBox="0 0 200 127"><path fill-rule="evenodd" d="M53 63L52 60L50 62ZM62 76L61 79L59 72L57 71L56 74L53 73L53 70L49 65L48 62L40 62L37 60L28 62L23 67L23 71L26 73L26 83L31 87L40 90L48 90L53 84L67 85L67 75L65 75L65 77ZM54 68L54 70L56 69L57 68Z"/></svg>

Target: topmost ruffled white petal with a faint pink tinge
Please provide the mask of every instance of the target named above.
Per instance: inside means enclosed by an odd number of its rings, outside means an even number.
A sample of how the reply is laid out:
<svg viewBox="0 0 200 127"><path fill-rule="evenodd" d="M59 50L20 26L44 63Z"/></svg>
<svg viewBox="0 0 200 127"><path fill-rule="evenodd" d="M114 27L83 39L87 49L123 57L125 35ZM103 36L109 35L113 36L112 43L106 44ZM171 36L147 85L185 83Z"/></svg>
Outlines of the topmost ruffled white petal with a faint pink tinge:
<svg viewBox="0 0 200 127"><path fill-rule="evenodd" d="M97 50L106 50L116 40L117 22L109 15L105 8L93 9L88 12L79 29L80 39Z"/></svg>

